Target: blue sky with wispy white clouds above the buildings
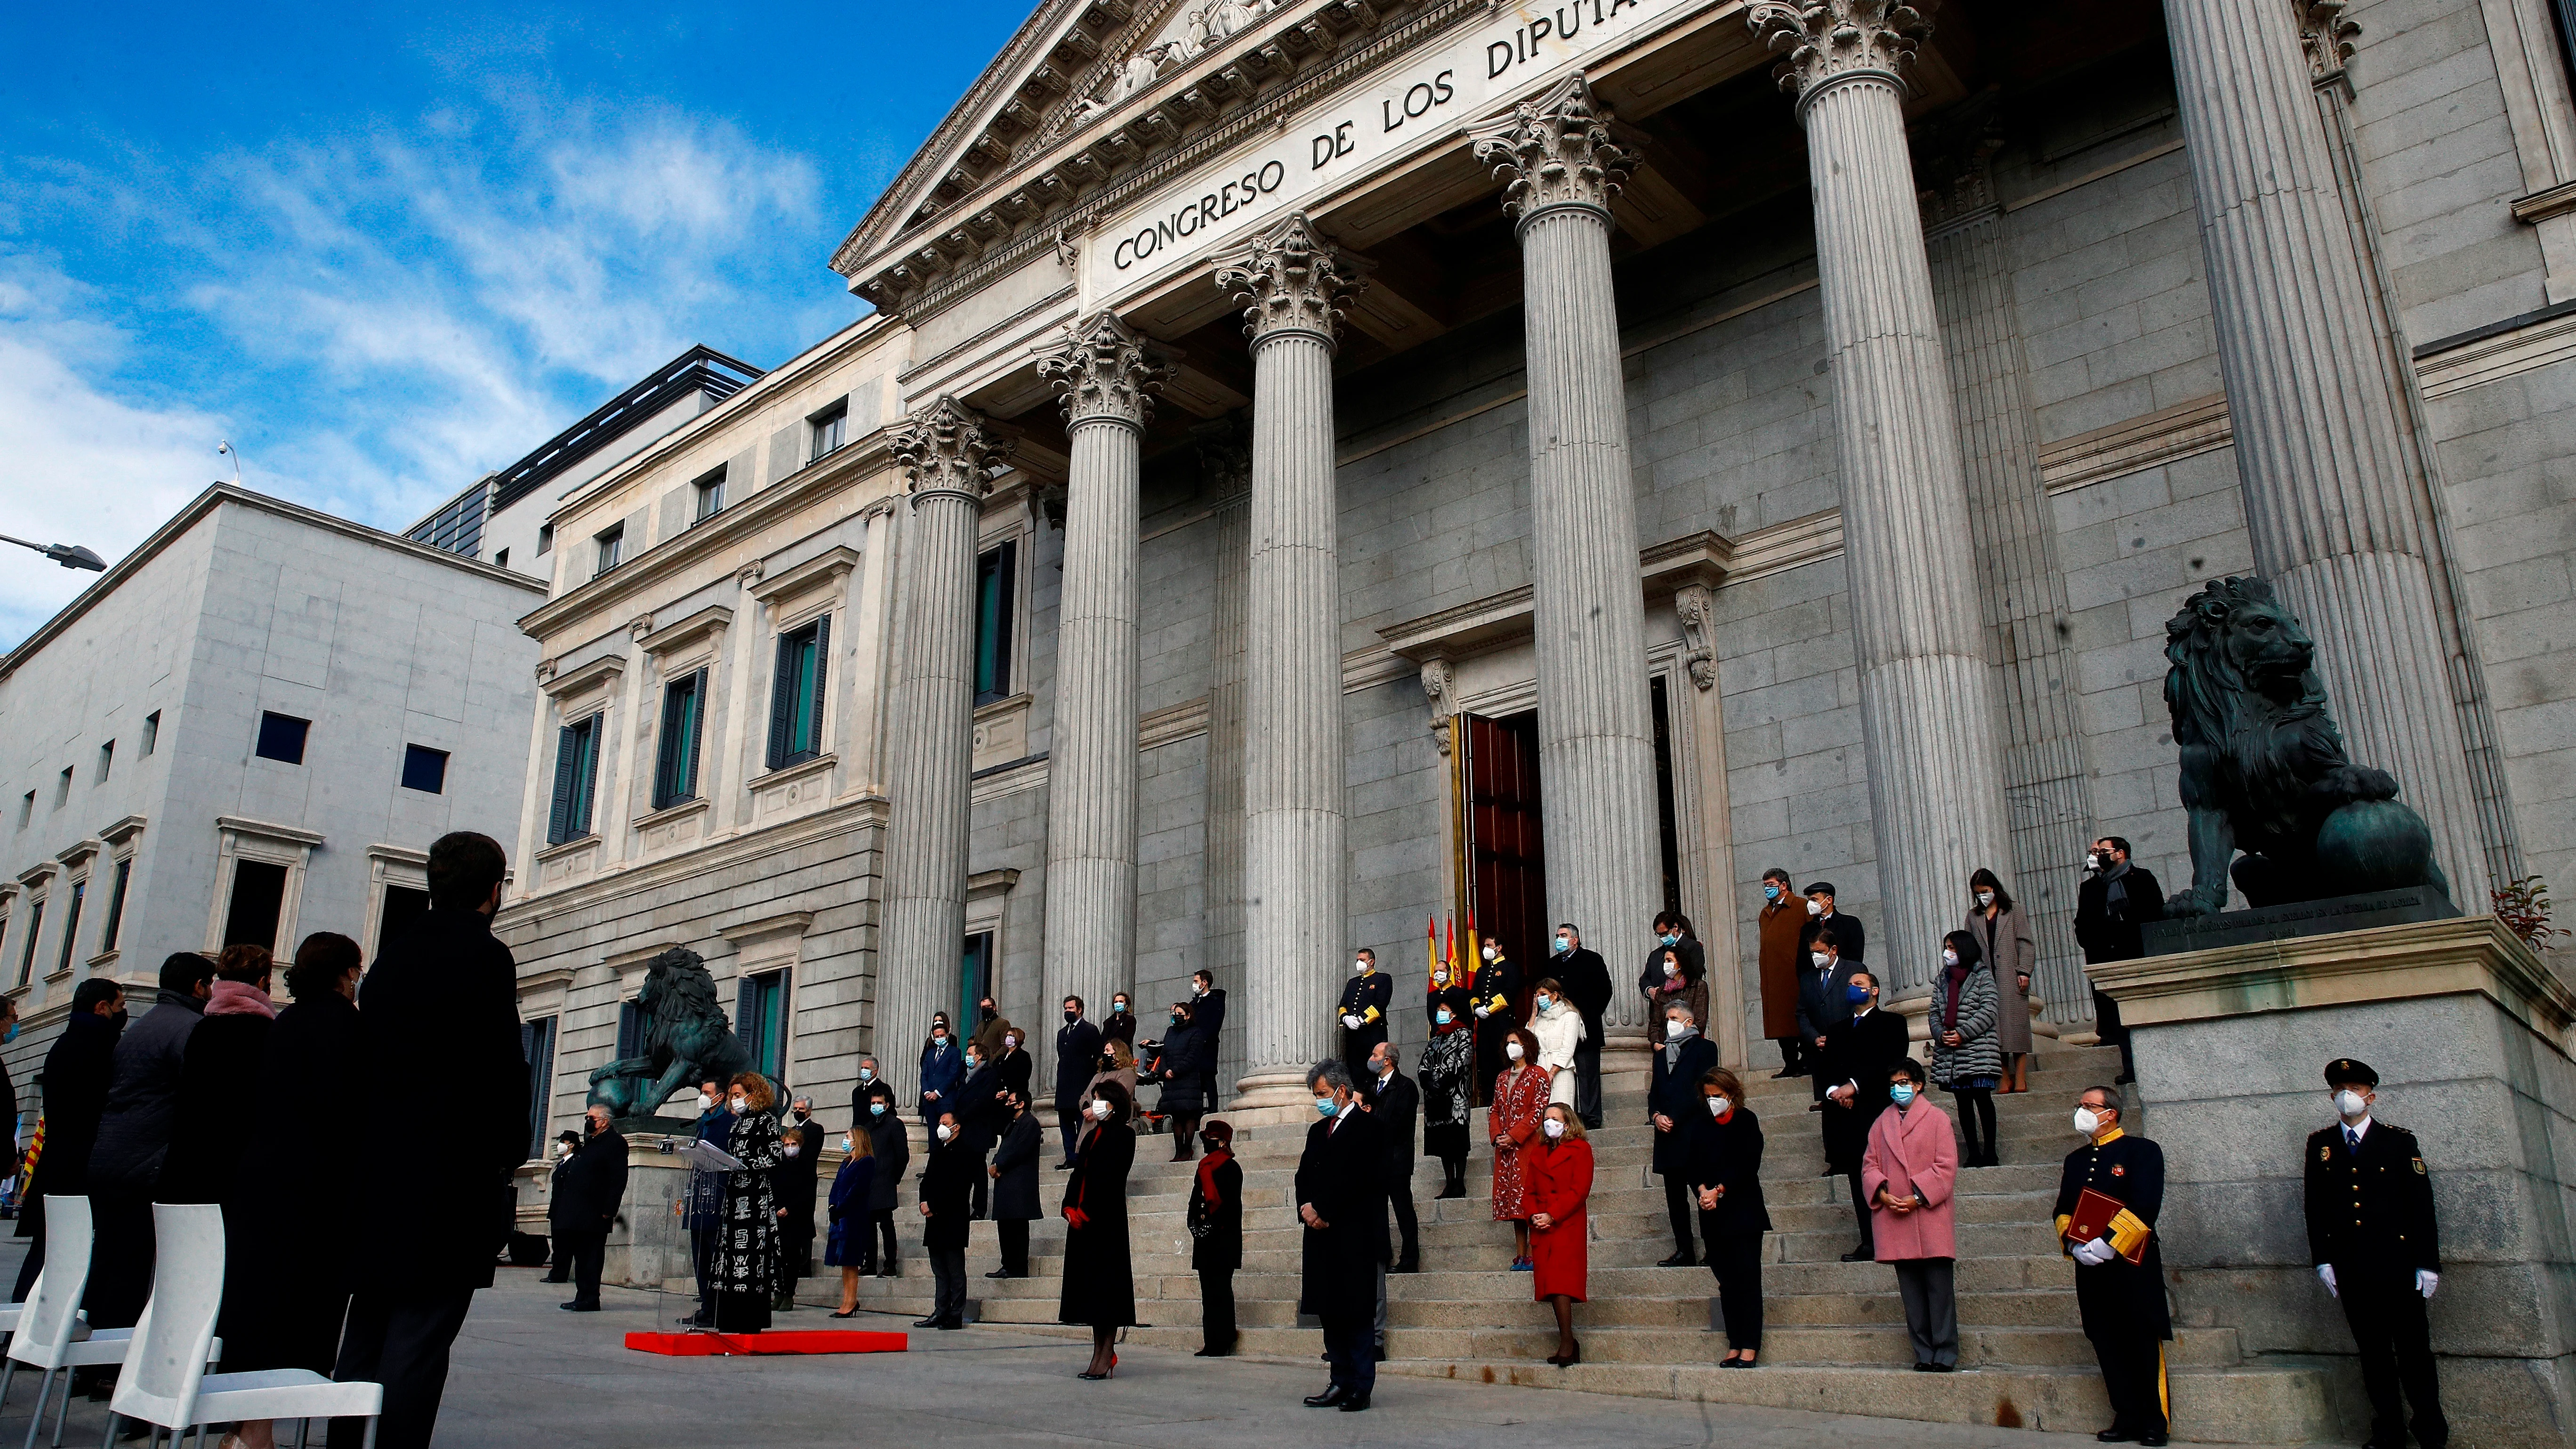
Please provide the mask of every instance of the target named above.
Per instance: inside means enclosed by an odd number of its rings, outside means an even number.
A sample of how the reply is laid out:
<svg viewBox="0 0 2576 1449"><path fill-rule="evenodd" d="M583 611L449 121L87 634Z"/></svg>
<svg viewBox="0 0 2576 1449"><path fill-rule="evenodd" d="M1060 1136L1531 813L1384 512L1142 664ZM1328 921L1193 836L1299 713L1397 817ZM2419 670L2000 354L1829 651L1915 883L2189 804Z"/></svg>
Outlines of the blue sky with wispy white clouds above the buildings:
<svg viewBox="0 0 2576 1449"><path fill-rule="evenodd" d="M402 529L690 343L858 317L832 245L1025 18L935 5L18 5L0 534L209 480ZM0 554L0 647L95 575Z"/></svg>

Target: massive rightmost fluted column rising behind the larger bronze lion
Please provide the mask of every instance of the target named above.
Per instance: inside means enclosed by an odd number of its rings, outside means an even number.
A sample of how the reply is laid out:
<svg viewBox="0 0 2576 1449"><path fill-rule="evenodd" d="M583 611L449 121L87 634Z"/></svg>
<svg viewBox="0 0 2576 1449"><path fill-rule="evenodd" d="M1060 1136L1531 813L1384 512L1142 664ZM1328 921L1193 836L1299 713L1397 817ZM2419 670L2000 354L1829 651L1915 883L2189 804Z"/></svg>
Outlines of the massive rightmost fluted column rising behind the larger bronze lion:
<svg viewBox="0 0 2576 1449"><path fill-rule="evenodd" d="M2254 567L2316 637L2354 763L2398 776L2452 900L2478 910L2488 887L2427 570L2429 500L2409 482L2396 384L2372 356L2295 15L2277 0L2166 0L2164 18Z"/></svg>

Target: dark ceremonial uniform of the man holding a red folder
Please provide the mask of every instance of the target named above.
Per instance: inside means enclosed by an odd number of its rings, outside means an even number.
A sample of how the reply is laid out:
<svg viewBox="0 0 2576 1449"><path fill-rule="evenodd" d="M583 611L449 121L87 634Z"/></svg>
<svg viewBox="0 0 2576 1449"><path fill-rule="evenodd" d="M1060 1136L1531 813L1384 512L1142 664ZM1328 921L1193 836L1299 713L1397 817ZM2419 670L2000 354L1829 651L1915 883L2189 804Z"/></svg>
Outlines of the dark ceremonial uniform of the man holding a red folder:
<svg viewBox="0 0 2576 1449"><path fill-rule="evenodd" d="M2112 1423L2105 1441L2164 1444L2166 1385L2164 1341L2174 1318L2164 1305L2164 1253L2156 1245L2156 1212L2164 1209L2164 1147L2146 1137L2112 1129L2066 1155L2058 1173L2058 1238L2074 1225L2076 1201L2092 1189L2117 1199L2105 1240L2112 1261L2076 1261L2076 1307L2084 1312L2084 1338L2102 1361L2102 1390L2110 1392Z"/></svg>

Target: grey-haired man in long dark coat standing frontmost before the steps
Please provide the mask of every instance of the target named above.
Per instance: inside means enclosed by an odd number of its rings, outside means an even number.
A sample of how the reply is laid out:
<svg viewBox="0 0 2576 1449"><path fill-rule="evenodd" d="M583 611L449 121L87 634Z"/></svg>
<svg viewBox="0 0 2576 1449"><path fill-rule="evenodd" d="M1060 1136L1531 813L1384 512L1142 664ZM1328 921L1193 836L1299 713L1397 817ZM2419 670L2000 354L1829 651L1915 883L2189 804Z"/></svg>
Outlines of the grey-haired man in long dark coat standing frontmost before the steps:
<svg viewBox="0 0 2576 1449"><path fill-rule="evenodd" d="M1350 1067L1334 1060L1306 1070L1321 1122L1306 1129L1296 1163L1296 1217L1306 1225L1301 1302L1324 1323L1332 1385L1306 1408L1358 1413L1378 1387L1370 1323L1386 1269L1386 1142L1360 1111Z"/></svg>

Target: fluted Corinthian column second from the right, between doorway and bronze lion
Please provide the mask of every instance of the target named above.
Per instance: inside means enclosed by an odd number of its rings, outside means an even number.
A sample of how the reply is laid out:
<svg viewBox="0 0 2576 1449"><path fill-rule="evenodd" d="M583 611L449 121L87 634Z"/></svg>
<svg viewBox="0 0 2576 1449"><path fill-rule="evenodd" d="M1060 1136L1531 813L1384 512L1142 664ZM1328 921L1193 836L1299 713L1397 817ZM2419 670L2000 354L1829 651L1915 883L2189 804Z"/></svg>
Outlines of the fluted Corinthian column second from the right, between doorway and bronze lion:
<svg viewBox="0 0 2576 1449"><path fill-rule="evenodd" d="M1984 619L1906 155L1904 70L1932 26L1893 0L1765 3L1747 21L1798 95L1816 273L1834 364L1842 562L1870 758L1888 985L1914 990L1958 926L1968 874L2009 861Z"/></svg>

